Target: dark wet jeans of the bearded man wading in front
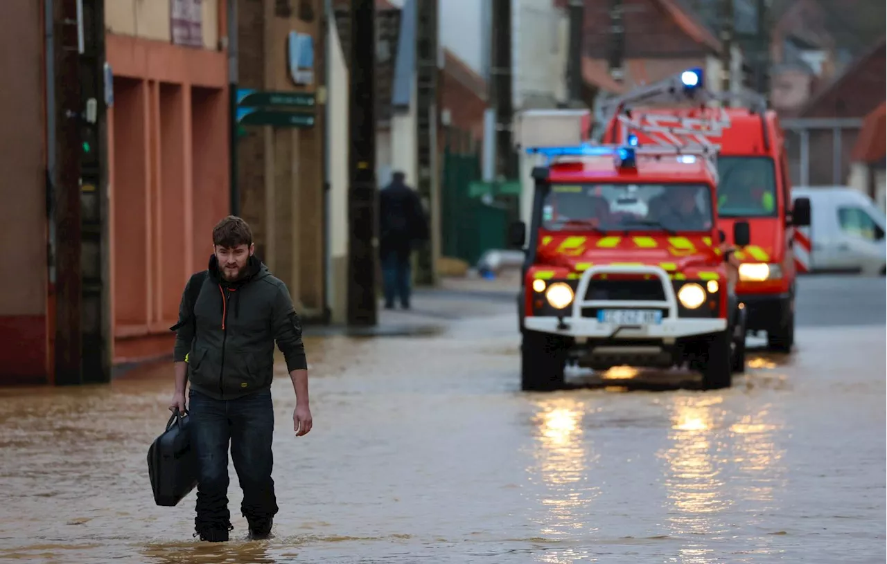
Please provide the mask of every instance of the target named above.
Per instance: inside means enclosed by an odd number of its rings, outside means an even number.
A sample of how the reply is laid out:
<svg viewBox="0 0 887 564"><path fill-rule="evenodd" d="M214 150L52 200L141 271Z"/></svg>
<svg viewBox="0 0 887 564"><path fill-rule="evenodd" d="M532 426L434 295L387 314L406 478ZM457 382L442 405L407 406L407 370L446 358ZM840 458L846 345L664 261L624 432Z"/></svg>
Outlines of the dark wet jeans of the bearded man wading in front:
<svg viewBox="0 0 887 564"><path fill-rule="evenodd" d="M197 485L197 516L201 529L229 529L228 443L234 468L243 490L241 513L248 521L278 512L271 479L274 410L271 390L237 399L214 399L191 390L192 443L200 460Z"/></svg>

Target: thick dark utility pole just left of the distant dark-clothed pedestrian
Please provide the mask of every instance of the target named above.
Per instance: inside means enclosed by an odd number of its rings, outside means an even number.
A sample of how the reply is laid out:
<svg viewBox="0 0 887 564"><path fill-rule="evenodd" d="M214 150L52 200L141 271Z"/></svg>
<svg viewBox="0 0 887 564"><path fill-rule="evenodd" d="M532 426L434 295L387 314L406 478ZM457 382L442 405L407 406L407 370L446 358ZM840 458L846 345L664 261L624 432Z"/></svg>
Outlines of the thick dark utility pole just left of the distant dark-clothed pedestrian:
<svg viewBox="0 0 887 564"><path fill-rule="evenodd" d="M351 0L348 191L348 323L377 324L376 297L376 120L374 0Z"/></svg>

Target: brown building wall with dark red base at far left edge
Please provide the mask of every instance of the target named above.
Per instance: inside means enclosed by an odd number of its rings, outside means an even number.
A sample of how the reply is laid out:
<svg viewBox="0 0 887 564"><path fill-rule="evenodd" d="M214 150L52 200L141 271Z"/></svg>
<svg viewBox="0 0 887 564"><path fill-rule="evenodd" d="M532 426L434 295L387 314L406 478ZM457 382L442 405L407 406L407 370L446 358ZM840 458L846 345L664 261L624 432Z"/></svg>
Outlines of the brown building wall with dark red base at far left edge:
<svg viewBox="0 0 887 564"><path fill-rule="evenodd" d="M49 373L43 3L0 13L0 384Z"/></svg>

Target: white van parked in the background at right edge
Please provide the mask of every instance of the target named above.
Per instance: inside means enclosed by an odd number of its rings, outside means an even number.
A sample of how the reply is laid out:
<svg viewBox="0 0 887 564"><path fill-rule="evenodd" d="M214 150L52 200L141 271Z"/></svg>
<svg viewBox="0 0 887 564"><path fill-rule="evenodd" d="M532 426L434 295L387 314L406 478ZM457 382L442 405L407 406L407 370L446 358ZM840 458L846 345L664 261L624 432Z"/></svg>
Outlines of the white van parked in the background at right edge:
<svg viewBox="0 0 887 564"><path fill-rule="evenodd" d="M870 197L844 186L797 187L809 197L811 272L887 274L887 216Z"/></svg>

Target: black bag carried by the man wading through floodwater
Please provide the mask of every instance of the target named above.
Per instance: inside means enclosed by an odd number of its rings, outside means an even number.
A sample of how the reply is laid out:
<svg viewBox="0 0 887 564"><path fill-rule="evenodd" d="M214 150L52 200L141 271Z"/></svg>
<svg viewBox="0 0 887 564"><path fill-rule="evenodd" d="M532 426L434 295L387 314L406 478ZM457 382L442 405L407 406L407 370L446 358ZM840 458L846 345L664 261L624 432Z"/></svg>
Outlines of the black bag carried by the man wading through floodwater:
<svg viewBox="0 0 887 564"><path fill-rule="evenodd" d="M158 506L176 506L197 486L197 452L191 444L190 423L188 410L181 416L176 410L167 429L148 448L148 477Z"/></svg>

